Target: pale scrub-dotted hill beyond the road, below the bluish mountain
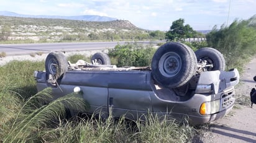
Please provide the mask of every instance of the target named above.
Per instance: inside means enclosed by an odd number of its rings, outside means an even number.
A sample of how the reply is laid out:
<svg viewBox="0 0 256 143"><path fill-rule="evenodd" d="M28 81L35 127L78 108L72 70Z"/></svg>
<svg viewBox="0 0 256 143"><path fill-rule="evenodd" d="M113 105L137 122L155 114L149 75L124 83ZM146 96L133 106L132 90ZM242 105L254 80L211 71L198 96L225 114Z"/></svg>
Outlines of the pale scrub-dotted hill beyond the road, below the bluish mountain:
<svg viewBox="0 0 256 143"><path fill-rule="evenodd" d="M128 20L92 22L7 16L0 16L0 30L8 32L7 36L0 35L0 40L32 40L27 42L133 40L136 35L140 35L140 39L145 37L146 32Z"/></svg>

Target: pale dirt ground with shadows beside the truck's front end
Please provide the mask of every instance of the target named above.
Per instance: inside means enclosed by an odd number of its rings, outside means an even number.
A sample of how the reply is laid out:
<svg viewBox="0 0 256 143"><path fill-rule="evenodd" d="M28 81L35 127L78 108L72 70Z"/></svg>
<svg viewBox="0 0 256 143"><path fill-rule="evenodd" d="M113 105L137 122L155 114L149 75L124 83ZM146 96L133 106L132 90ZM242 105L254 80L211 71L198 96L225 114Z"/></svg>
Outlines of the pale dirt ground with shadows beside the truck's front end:
<svg viewBox="0 0 256 143"><path fill-rule="evenodd" d="M250 90L255 87L256 57L245 66L240 74L239 85L235 87L236 102L247 96L249 100ZM236 103L231 113L222 119L218 119L208 125L208 131L196 142L256 142L256 105L242 105Z"/></svg>

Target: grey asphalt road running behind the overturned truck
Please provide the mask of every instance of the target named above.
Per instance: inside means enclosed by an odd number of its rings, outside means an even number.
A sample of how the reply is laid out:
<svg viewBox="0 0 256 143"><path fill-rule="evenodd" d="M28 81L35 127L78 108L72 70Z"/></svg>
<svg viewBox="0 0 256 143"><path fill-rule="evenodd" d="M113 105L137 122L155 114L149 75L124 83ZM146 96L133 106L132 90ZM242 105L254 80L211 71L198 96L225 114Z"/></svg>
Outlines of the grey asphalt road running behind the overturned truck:
<svg viewBox="0 0 256 143"><path fill-rule="evenodd" d="M137 43L149 44L160 41L137 41ZM32 44L2 44L0 53L5 52L7 56L30 54L42 51L85 51L85 50L104 50L114 48L117 44L124 45L125 41L108 42L74 42L74 43L32 43Z"/></svg>

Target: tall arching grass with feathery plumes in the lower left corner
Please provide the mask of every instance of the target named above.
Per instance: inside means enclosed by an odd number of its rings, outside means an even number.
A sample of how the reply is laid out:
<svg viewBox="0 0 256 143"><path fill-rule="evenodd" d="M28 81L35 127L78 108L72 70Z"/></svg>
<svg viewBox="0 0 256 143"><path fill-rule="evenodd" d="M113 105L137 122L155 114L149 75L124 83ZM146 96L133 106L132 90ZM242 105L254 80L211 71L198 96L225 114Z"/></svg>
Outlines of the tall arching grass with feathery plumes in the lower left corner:
<svg viewBox="0 0 256 143"><path fill-rule="evenodd" d="M65 108L85 111L86 106L83 105L86 104L83 98L71 94L53 100L50 93L50 89L45 89L24 103L16 118L9 124L6 136L2 137L3 142L27 142L27 139L37 141L40 137L40 129L49 126L48 124L57 124L55 119L65 116ZM53 101L45 103L50 100Z"/></svg>

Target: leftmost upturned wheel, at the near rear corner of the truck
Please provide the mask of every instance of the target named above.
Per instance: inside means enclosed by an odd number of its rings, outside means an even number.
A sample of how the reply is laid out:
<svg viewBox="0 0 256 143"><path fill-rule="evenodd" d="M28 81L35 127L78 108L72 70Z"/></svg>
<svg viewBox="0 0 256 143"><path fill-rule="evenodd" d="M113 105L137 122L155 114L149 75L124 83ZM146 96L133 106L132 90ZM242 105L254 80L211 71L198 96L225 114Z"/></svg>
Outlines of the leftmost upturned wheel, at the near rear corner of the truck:
<svg viewBox="0 0 256 143"><path fill-rule="evenodd" d="M60 78L68 70L68 62L64 54L52 52L45 59L45 71L52 74L55 79Z"/></svg>

